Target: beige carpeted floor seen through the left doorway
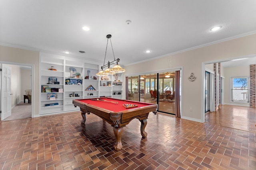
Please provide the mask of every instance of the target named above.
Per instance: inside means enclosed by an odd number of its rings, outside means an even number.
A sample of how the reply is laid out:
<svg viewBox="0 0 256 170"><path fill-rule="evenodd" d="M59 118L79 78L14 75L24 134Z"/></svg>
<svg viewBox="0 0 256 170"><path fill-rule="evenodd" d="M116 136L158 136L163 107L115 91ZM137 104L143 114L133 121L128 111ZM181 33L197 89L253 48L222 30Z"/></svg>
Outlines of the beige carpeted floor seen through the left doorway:
<svg viewBox="0 0 256 170"><path fill-rule="evenodd" d="M20 102L12 109L12 115L7 117L3 121L16 120L16 119L24 119L31 117L32 115L32 106L31 103Z"/></svg>

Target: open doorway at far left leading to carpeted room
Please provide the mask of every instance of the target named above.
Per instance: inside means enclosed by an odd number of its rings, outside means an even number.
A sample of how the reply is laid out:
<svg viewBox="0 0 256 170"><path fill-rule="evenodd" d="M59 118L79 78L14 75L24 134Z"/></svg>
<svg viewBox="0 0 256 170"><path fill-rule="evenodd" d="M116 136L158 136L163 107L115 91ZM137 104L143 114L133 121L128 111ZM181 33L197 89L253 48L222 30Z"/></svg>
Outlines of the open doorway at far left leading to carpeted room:
<svg viewBox="0 0 256 170"><path fill-rule="evenodd" d="M10 80L10 107L11 107L11 114L7 118L2 119L1 115L1 121L9 121L14 119L23 119L32 117L32 107L34 102L32 102L31 98L28 103L28 99L26 91L32 92L32 65L28 64L14 64L14 63L5 63L0 62L1 68L3 66L8 66L11 68L11 80ZM2 75L2 74L1 74ZM1 76L2 80L2 76ZM3 85L3 81L0 82L1 87ZM2 89L2 91L4 91ZM2 93L2 92L1 92ZM28 95L29 96L29 95ZM2 99L1 99L2 100ZM1 110L5 109L5 105L1 105Z"/></svg>

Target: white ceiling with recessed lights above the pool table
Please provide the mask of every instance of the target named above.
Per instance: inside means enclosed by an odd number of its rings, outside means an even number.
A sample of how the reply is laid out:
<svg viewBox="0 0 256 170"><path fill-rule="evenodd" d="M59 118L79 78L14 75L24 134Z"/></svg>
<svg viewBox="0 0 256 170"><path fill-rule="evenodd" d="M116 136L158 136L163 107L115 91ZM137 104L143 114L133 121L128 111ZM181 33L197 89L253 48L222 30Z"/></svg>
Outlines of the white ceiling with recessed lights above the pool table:
<svg viewBox="0 0 256 170"><path fill-rule="evenodd" d="M115 57L128 65L256 33L255 8L256 0L1 0L0 45L103 64L111 34Z"/></svg>

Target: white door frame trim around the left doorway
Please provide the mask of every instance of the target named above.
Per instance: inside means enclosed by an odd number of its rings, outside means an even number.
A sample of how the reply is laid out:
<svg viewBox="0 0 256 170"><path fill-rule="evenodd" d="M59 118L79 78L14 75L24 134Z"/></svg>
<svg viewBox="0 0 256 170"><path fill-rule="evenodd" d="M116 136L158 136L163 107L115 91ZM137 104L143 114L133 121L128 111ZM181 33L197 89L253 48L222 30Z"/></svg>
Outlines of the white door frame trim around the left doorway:
<svg viewBox="0 0 256 170"><path fill-rule="evenodd" d="M14 62L7 62L7 61L0 61L1 64L10 64L10 65L18 65L18 66L31 66L31 88L32 88L32 95L31 95L31 106L32 106L32 110L31 110L31 117L34 118L34 64L25 64L25 63L14 63ZM2 82L1 82L2 83ZM0 108L1 109L1 108Z"/></svg>

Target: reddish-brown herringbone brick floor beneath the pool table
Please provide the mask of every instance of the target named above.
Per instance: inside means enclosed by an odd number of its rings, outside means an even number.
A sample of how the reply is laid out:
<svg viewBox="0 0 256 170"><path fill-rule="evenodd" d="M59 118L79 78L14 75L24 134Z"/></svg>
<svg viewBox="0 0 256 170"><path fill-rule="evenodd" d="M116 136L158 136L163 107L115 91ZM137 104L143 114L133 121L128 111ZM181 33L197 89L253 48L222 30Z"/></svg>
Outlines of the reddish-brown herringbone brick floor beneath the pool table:
<svg viewBox="0 0 256 170"><path fill-rule="evenodd" d="M256 133L150 113L142 139L140 122L122 133L114 150L112 127L80 112L0 122L3 170L256 169Z"/></svg>

